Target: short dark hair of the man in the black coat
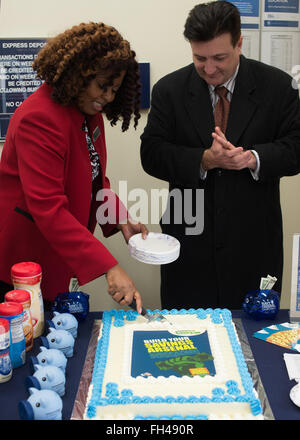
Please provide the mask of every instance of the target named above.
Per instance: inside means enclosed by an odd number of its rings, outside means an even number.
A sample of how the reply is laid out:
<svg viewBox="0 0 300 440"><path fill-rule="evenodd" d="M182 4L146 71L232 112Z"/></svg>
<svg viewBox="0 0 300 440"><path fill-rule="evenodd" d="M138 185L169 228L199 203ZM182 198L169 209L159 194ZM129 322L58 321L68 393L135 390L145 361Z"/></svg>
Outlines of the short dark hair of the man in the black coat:
<svg viewBox="0 0 300 440"><path fill-rule="evenodd" d="M230 33L233 47L241 36L239 10L227 1L200 3L189 13L184 33L189 41L210 41L222 34Z"/></svg>

